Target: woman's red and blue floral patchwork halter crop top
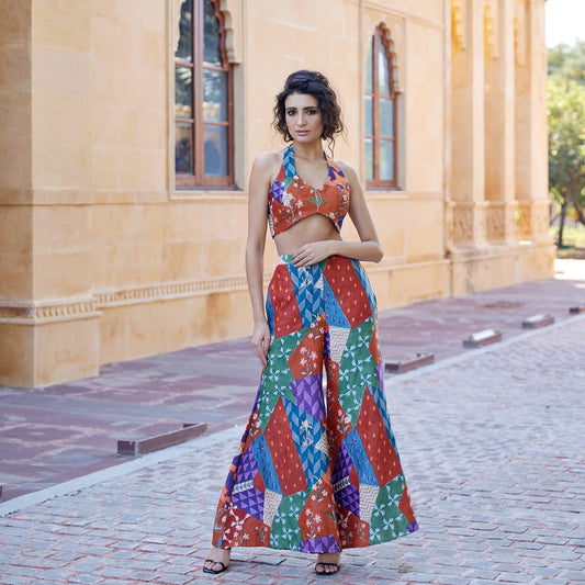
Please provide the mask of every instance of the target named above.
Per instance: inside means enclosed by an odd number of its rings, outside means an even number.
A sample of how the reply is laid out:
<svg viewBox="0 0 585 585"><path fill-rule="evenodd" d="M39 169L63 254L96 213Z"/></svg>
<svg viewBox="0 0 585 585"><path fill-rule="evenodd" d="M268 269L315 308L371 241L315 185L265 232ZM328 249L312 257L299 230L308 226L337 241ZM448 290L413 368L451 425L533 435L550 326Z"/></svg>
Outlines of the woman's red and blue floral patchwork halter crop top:
<svg viewBox="0 0 585 585"><path fill-rule="evenodd" d="M339 232L349 210L349 182L327 154L329 172L320 189L305 183L296 173L294 150L286 148L279 175L268 194L268 224L272 237L310 215L328 217Z"/></svg>

